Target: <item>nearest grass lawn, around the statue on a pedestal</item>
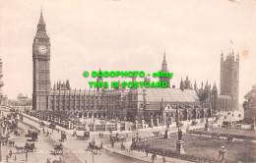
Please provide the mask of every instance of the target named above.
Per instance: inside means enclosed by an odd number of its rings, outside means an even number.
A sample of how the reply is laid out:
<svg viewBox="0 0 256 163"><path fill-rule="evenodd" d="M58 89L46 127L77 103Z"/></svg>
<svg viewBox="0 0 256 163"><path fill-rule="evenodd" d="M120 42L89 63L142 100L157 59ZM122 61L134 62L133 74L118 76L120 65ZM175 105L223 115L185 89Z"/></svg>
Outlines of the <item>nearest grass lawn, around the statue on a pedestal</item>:
<svg viewBox="0 0 256 163"><path fill-rule="evenodd" d="M177 136L168 139L149 140L151 147L175 150ZM228 162L256 162L254 143L242 141L227 141L200 136L182 136L186 154L198 157L207 157L217 160L222 146L227 148L224 158Z"/></svg>

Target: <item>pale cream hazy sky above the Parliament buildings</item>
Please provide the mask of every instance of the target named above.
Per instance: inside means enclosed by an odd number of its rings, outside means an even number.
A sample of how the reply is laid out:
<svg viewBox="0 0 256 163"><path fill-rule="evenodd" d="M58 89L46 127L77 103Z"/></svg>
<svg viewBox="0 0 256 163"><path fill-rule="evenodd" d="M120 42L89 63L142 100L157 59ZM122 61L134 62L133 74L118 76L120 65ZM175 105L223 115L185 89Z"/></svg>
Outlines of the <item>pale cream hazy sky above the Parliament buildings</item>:
<svg viewBox="0 0 256 163"><path fill-rule="evenodd" d="M220 91L221 53L229 47L240 56L240 102L256 82L256 0L1 0L3 93L11 99L32 97L40 8L51 41L52 85L69 80L72 88L89 89L95 79L83 72L99 68L152 74L165 51L171 84L188 76L200 86L216 81Z"/></svg>

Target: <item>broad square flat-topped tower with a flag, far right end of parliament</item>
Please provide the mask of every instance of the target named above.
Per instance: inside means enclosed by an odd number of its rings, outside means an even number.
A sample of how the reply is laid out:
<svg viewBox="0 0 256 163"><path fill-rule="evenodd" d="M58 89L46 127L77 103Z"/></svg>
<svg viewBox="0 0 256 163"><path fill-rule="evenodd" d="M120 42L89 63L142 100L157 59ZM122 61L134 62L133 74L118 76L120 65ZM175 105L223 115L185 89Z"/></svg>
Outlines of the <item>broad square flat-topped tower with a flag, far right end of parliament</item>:
<svg viewBox="0 0 256 163"><path fill-rule="evenodd" d="M233 51L226 56L221 55L221 94L231 96L231 110L238 109L239 89L239 55L234 57Z"/></svg>

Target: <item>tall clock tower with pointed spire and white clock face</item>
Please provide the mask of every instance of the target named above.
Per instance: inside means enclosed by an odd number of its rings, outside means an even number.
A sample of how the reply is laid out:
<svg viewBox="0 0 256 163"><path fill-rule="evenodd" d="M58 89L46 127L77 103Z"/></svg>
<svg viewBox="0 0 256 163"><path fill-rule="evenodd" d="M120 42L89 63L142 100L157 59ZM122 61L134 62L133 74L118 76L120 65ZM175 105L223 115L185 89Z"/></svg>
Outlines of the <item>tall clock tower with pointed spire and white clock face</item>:
<svg viewBox="0 0 256 163"><path fill-rule="evenodd" d="M32 43L32 109L47 110L50 92L50 40L42 12Z"/></svg>

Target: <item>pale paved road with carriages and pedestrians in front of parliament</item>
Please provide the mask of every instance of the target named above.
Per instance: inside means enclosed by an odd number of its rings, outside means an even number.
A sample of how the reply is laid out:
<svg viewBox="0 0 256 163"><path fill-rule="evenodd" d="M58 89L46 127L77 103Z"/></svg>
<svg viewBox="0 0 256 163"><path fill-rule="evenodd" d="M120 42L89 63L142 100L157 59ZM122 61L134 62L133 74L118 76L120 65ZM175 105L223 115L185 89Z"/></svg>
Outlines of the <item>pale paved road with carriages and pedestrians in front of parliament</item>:
<svg viewBox="0 0 256 163"><path fill-rule="evenodd" d="M211 121L211 119L210 119ZM42 128L39 127L39 125L37 123L35 123L34 121L24 117L24 123L26 124L30 124L33 127L35 127L36 129L42 131ZM221 123L221 122L220 122ZM19 128L22 131L25 131L25 133L27 133L29 126L23 124L23 123L19 123ZM204 123L200 123L198 124L198 126L190 126L190 129L194 129L194 128L202 128L204 127ZM184 124L184 126L182 127L182 130L185 131L185 129L187 128L187 125ZM45 131L47 130L47 128L45 128ZM139 136L152 136L153 135L153 131L160 131L163 132L165 130L165 128L163 127L156 127L153 130L152 129L142 129L139 131ZM52 130L48 130L50 133L52 132ZM170 132L171 133L176 133L177 129L174 126L171 126L170 128ZM17 137L15 139L16 144L19 146L24 146L26 140L28 139L28 137L25 136L25 133L22 134L22 136ZM125 133L125 132L124 132ZM113 133L115 134L115 133ZM119 133L120 134L120 133ZM120 136L120 135L119 135ZM129 136L131 137L132 134L131 132L129 133ZM38 141L35 142L35 146L37 147L37 151L35 153L29 153L29 161L28 162L32 162L32 163L45 163L46 162L46 158L51 158L53 159L65 159L67 163L85 163L87 161L87 163L93 163L93 159L95 163L136 163L136 162L142 162L139 161L137 159L131 158L131 157L127 157L124 155L120 155L120 154L116 154L114 152L107 152L104 154L100 154L100 155L92 155L92 153L87 152L85 149L87 148L89 142L92 140L92 138L96 139L96 144L100 144L101 140L103 141L103 146L105 145L109 145L106 144L108 143L107 139L100 139L98 138L97 135L95 136L91 136L91 138L89 140L77 140L76 137L74 136L70 136L67 135L67 141L63 142L63 146L64 146L64 154L62 155L53 155L51 154L51 151L53 149L52 144L53 143L57 143L58 139L60 139L60 133L58 133L57 131L54 131L50 137L47 136L43 136L42 134L38 136ZM130 139L130 138L129 138ZM116 145L120 146L119 143L117 143ZM128 146L128 145L127 145ZM11 149L11 147L7 147L4 146L2 147L2 156L3 159L5 159L5 155L7 154L8 149ZM132 154L132 153L131 153ZM13 161L14 157L11 158L11 160ZM181 160L180 160L181 161ZM17 154L17 161L16 162L25 162L25 154Z"/></svg>

